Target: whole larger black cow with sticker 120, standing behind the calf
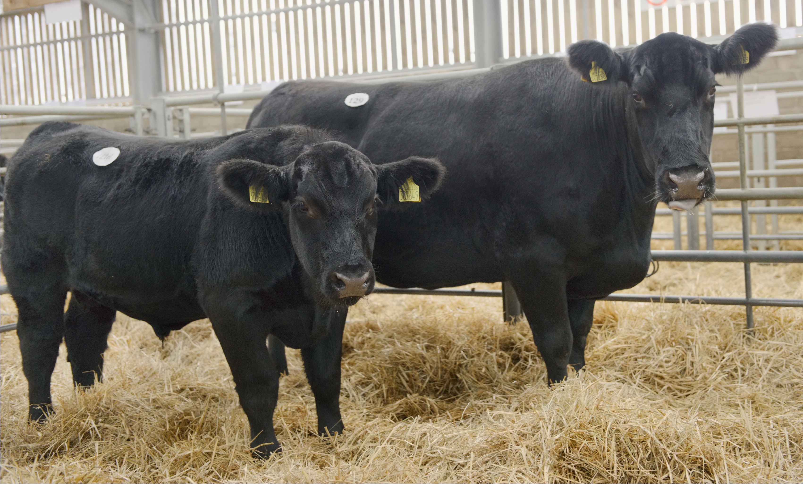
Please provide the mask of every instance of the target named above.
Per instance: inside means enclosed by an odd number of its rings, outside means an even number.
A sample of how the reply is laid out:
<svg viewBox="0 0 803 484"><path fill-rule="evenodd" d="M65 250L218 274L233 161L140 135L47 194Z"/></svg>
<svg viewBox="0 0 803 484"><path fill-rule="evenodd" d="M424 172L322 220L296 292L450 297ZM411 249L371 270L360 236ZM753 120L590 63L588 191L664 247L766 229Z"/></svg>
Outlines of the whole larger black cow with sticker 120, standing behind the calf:
<svg viewBox="0 0 803 484"><path fill-rule="evenodd" d="M657 202L691 209L714 193L714 75L756 67L776 43L774 26L751 24L717 46L583 40L567 59L463 79L284 83L248 125L330 129L379 164L438 157L450 174L430 202L380 217L377 280L509 280L556 382L585 364L594 300L646 275ZM351 108L355 92L369 100Z"/></svg>

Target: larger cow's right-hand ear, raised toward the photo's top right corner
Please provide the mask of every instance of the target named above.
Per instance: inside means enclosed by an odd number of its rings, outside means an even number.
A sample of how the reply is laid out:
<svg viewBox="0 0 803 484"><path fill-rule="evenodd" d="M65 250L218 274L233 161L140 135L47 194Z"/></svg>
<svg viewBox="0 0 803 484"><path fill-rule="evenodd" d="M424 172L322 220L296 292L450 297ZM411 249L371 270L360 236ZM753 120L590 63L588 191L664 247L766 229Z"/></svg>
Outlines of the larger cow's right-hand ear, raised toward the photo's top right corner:
<svg viewBox="0 0 803 484"><path fill-rule="evenodd" d="M758 66L778 43L778 28L756 22L743 26L714 47L715 74L741 74Z"/></svg>

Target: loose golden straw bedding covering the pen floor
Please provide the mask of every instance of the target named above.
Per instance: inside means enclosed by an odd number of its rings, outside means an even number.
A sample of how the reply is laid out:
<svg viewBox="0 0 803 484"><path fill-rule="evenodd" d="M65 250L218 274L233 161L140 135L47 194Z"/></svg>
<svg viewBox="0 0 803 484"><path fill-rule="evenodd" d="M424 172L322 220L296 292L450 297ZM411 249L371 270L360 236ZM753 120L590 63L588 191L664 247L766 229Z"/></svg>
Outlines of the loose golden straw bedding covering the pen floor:
<svg viewBox="0 0 803 484"><path fill-rule="evenodd" d="M803 266L753 270L756 296L803 297ZM630 291L741 295L741 271L665 263ZM10 296L2 311L16 313ZM742 307L597 303L587 369L548 388L527 324L503 323L499 299L373 295L346 327L346 433L313 435L312 392L289 351L275 413L284 452L267 462L248 452L247 419L208 321L162 348L147 324L118 314L102 384L73 390L62 350L58 413L45 425L26 423L18 340L8 332L0 478L801 482L803 310L756 308L756 327L745 334Z"/></svg>

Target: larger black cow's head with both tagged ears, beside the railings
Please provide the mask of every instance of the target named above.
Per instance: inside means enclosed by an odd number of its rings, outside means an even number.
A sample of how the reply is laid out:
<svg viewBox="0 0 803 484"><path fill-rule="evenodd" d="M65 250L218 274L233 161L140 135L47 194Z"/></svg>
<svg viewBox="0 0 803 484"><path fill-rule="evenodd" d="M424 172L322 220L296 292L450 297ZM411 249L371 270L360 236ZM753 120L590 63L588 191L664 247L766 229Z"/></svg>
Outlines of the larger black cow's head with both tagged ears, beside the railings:
<svg viewBox="0 0 803 484"><path fill-rule="evenodd" d="M714 75L739 75L756 67L777 39L775 26L753 23L717 46L674 32L619 51L596 40L581 40L569 46L568 60L594 87L619 81L630 87L626 102L633 108L642 155L655 177L656 198L683 210L714 193L708 160Z"/></svg>

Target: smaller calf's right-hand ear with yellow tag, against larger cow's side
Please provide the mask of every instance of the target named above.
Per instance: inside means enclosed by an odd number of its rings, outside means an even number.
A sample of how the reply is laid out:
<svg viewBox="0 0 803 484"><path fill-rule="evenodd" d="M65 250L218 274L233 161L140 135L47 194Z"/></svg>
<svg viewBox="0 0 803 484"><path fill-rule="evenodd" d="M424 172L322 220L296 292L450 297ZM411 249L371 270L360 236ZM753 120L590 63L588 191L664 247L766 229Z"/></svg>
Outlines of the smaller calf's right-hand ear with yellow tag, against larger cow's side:
<svg viewBox="0 0 803 484"><path fill-rule="evenodd" d="M440 188L445 175L446 167L436 158L410 157L377 165L377 193L386 205L408 206L400 202L425 200Z"/></svg>

